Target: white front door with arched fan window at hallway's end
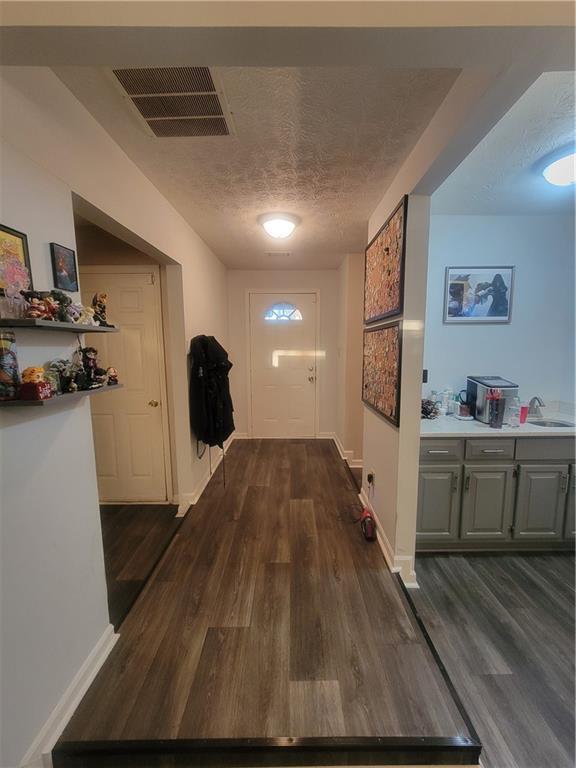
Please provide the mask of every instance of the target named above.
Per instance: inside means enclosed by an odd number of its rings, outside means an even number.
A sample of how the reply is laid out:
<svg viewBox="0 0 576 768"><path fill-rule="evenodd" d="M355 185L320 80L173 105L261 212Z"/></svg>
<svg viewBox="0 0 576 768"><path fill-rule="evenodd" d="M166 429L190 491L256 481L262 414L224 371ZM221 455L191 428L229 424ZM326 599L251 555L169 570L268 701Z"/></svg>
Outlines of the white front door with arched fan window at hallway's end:
<svg viewBox="0 0 576 768"><path fill-rule="evenodd" d="M250 294L253 437L316 433L316 294Z"/></svg>

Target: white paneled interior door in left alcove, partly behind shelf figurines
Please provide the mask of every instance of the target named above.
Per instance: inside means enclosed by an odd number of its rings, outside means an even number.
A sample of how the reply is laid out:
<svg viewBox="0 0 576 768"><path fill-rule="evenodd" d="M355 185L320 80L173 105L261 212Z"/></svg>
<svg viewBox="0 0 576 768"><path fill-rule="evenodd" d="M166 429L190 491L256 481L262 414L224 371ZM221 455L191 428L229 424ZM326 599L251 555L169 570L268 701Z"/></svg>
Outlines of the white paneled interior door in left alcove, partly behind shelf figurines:
<svg viewBox="0 0 576 768"><path fill-rule="evenodd" d="M108 321L119 333L86 334L103 367L124 385L90 399L101 501L167 500L162 381L164 357L157 270L146 274L80 270L82 301L108 294Z"/></svg>

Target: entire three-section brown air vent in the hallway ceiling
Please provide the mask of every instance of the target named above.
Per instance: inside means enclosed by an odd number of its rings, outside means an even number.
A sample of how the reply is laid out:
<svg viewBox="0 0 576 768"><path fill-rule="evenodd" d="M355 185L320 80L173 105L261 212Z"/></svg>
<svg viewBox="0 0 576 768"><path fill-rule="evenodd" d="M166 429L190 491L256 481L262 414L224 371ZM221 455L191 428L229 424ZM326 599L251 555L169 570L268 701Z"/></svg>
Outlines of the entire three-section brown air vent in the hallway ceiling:
<svg viewBox="0 0 576 768"><path fill-rule="evenodd" d="M228 136L234 132L221 83L208 67L112 72L123 96L154 136Z"/></svg>

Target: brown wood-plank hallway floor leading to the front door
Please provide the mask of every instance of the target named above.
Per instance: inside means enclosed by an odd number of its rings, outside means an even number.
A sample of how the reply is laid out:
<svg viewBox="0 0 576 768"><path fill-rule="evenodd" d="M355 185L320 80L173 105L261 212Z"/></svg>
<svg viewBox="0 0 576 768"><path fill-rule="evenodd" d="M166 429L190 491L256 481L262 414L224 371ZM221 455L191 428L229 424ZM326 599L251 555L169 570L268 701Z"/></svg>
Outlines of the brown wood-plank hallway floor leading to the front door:
<svg viewBox="0 0 576 768"><path fill-rule="evenodd" d="M185 518L55 764L92 765L65 762L72 742L466 740L395 577L354 522L332 441L238 440L226 476Z"/></svg>

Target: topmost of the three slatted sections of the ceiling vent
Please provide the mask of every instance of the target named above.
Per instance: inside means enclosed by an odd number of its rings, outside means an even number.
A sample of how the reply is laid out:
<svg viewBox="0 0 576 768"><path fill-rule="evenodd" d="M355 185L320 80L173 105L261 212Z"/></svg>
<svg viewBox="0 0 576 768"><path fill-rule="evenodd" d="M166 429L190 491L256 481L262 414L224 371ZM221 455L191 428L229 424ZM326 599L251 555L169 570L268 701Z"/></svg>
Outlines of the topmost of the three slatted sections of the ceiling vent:
<svg viewBox="0 0 576 768"><path fill-rule="evenodd" d="M211 93L216 90L208 67L114 69L129 96L157 93Z"/></svg>

